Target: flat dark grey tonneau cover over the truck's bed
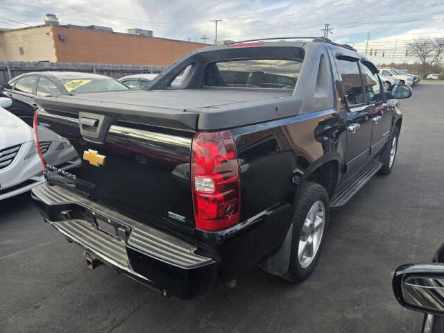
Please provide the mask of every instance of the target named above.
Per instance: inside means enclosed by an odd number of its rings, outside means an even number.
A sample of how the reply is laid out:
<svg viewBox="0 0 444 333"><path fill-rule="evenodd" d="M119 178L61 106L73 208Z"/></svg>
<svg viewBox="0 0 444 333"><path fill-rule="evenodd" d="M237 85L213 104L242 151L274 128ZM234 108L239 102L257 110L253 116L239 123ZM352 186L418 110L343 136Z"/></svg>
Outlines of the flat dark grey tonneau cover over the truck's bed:
<svg viewBox="0 0 444 333"><path fill-rule="evenodd" d="M36 101L50 113L93 112L178 130L216 130L294 115L298 103L292 94L293 90L287 89L164 89L63 95Z"/></svg>

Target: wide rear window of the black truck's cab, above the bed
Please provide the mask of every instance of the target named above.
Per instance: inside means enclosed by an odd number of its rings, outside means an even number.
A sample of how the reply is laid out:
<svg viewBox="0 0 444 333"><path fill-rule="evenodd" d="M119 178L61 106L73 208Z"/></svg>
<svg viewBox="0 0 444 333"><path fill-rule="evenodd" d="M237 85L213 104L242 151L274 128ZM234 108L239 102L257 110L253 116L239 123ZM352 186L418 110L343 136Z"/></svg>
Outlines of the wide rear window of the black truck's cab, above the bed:
<svg viewBox="0 0 444 333"><path fill-rule="evenodd" d="M214 62L205 69L207 87L294 89L302 62L251 59Z"/></svg>

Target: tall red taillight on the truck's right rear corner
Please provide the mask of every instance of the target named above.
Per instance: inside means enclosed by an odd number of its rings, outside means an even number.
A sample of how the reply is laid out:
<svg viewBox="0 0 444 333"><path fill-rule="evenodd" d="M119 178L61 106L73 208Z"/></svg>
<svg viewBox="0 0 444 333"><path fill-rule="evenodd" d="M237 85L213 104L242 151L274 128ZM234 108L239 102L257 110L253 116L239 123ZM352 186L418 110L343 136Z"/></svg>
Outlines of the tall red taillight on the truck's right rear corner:
<svg viewBox="0 0 444 333"><path fill-rule="evenodd" d="M216 231L239 222L239 164L229 131L196 133L191 152L196 228Z"/></svg>

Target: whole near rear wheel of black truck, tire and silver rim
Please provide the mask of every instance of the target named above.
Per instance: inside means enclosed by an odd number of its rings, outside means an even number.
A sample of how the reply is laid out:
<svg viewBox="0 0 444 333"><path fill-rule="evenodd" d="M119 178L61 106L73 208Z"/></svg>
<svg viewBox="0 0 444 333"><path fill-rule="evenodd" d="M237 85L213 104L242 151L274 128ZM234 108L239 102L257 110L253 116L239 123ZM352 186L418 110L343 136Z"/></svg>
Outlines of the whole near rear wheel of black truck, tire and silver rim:
<svg viewBox="0 0 444 333"><path fill-rule="evenodd" d="M293 215L289 270L284 279L302 281L314 270L321 254L329 216L327 191L321 185L308 182L302 189Z"/></svg>

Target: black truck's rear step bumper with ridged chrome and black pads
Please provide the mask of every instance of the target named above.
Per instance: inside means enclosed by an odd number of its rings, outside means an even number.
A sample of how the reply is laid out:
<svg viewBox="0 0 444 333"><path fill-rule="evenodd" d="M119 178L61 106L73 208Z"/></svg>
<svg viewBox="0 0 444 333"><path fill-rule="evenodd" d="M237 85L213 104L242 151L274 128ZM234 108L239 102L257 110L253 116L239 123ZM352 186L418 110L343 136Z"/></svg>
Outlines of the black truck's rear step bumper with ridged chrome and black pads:
<svg viewBox="0 0 444 333"><path fill-rule="evenodd" d="M216 262L196 246L45 182L32 197L49 222L87 253L150 287L182 299L216 287Z"/></svg>

